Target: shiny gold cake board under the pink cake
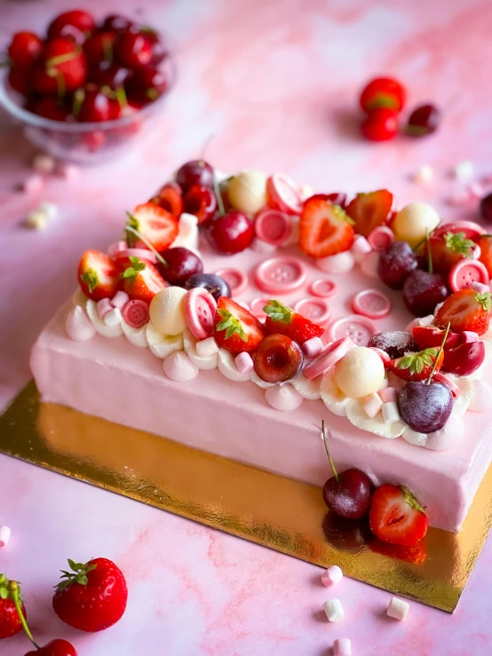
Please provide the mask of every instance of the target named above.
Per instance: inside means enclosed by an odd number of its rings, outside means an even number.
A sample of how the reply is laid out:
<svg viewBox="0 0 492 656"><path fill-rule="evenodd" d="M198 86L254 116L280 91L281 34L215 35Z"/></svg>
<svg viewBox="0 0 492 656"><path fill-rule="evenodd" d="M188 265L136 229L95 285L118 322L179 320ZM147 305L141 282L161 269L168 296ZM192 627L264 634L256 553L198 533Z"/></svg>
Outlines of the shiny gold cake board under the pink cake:
<svg viewBox="0 0 492 656"><path fill-rule="evenodd" d="M34 382L0 417L0 452L449 613L492 523L492 467L461 533L430 528L396 548L327 512L318 486L41 403Z"/></svg>

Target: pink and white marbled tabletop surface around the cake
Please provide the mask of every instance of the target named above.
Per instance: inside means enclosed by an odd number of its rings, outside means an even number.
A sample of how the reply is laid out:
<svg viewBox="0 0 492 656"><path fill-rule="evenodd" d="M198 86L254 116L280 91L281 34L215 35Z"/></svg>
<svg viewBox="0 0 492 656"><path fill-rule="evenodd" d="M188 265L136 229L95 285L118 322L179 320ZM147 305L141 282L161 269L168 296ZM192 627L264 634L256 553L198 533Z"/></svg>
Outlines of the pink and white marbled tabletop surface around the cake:
<svg viewBox="0 0 492 656"><path fill-rule="evenodd" d="M97 12L121 9L104 0ZM135 14L139 4L126 2ZM52 179L40 197L12 192L28 175L31 146L0 115L0 406L28 381L36 334L70 293L87 247L104 247L121 228L123 210L154 191L180 162L207 153L222 170L282 169L327 191L389 186L401 203L429 200L446 216L470 217L444 199L455 186L449 168L470 159L492 170L487 0L369 3L361 0L148 0L142 19L171 35L179 83L155 138L126 157L83 171L67 184ZM0 3L0 40L18 28L43 28L67 7L52 2ZM369 75L407 83L412 103L444 107L432 138L363 142L355 96ZM436 182L416 186L422 163ZM60 217L43 233L20 227L40 200ZM330 593L319 568L211 531L182 518L107 494L0 456L0 525L12 540L0 570L23 582L31 625L41 642L67 636L81 656L165 653L329 654L349 636L353 656L477 656L492 651L492 541L488 541L453 616L411 604L401 624L385 618L388 593L345 580ZM130 587L123 620L99 636L76 634L51 611L51 587L66 557L115 559ZM321 604L336 595L342 624L323 620ZM23 637L2 644L4 656L28 649Z"/></svg>

